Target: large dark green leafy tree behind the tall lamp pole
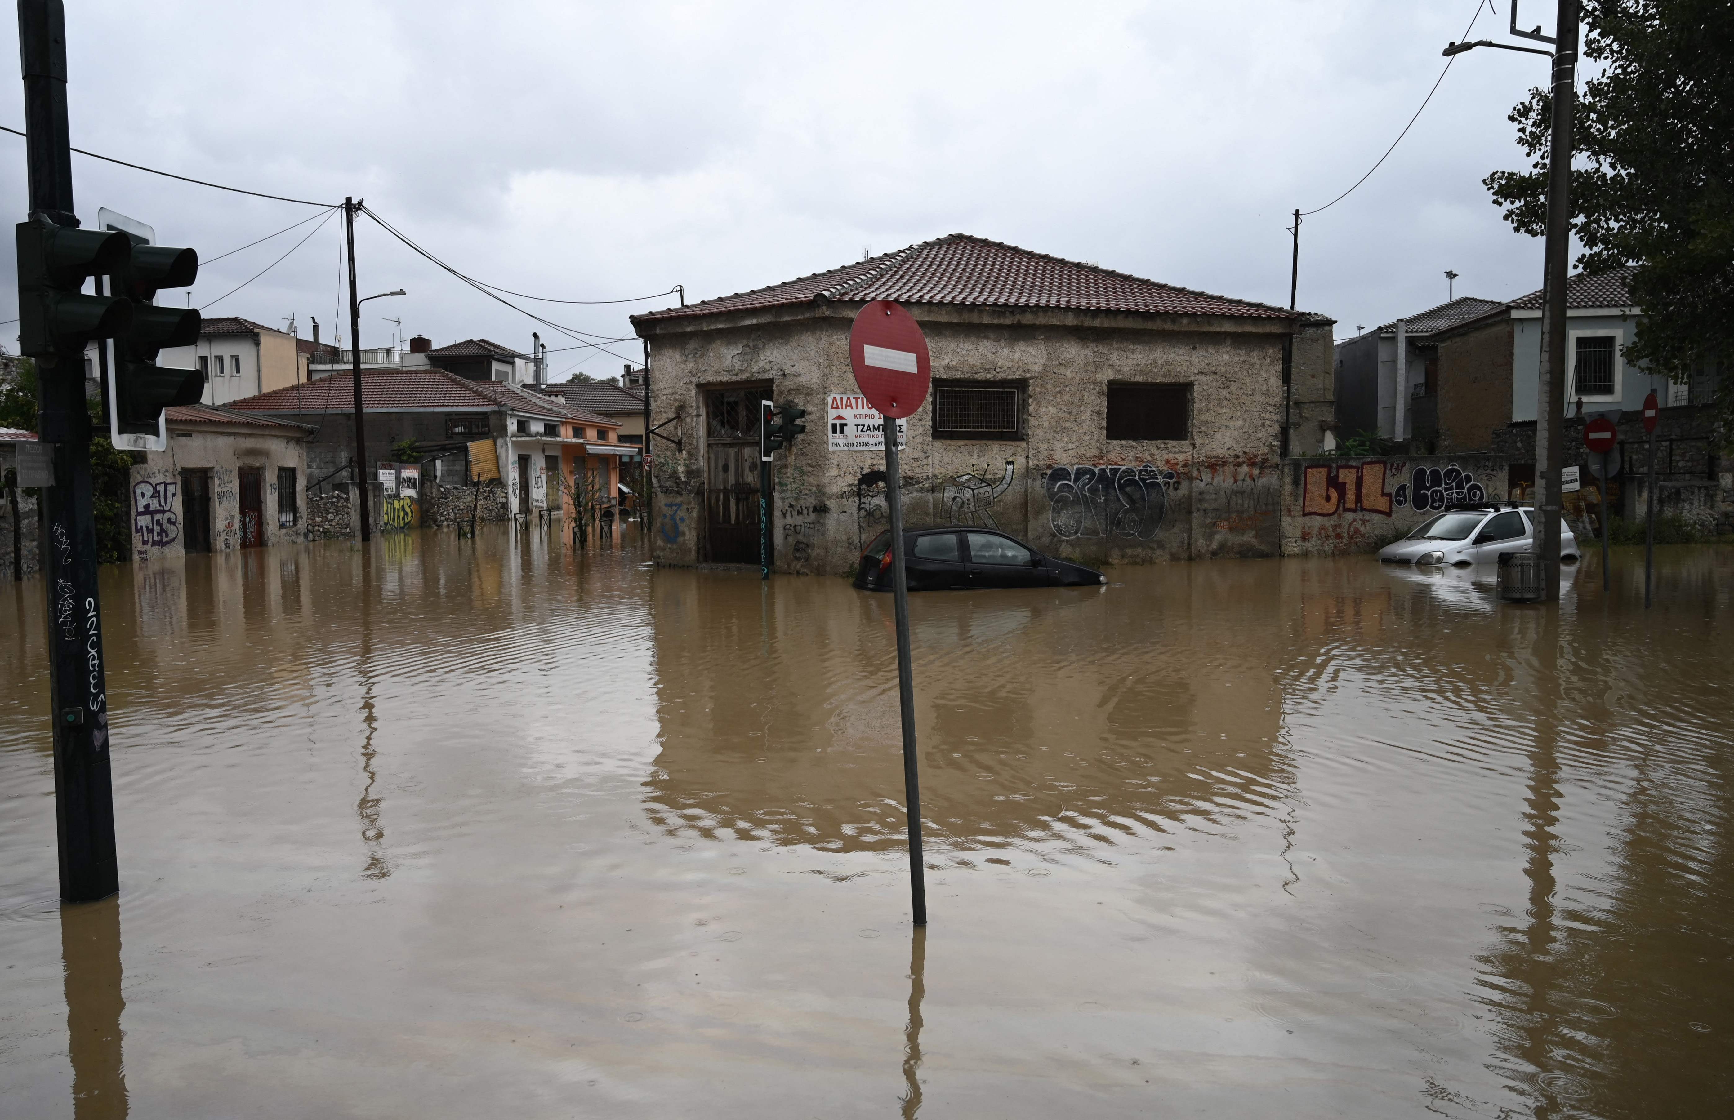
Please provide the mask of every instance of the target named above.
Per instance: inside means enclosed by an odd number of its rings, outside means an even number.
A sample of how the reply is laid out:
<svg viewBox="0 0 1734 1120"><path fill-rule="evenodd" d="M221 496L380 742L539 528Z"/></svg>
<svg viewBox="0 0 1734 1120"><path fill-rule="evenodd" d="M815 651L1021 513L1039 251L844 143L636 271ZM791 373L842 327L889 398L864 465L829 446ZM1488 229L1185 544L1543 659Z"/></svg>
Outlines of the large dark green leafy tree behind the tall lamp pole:
<svg viewBox="0 0 1734 1120"><path fill-rule="evenodd" d="M1578 267L1635 264L1644 309L1628 357L1675 381L1717 362L1717 397L1734 420L1734 3L1590 0L1583 57L1592 64L1573 116L1571 172ZM1547 90L1512 109L1528 172L1483 182L1505 220L1547 225Z"/></svg>

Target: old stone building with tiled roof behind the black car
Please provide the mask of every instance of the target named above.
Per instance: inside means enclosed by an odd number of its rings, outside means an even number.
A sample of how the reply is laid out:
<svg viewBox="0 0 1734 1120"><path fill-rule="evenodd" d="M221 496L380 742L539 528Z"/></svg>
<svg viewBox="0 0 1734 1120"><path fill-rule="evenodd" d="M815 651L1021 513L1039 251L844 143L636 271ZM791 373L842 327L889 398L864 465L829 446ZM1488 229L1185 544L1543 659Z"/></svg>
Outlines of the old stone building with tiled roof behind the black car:
<svg viewBox="0 0 1734 1120"><path fill-rule="evenodd" d="M633 317L659 562L758 562L761 399L808 411L775 456L777 570L846 572L884 529L848 355L879 298L933 354L907 421L909 524L997 525L1085 562L1280 550L1280 456L1316 451L1330 416L1328 319L954 234Z"/></svg>

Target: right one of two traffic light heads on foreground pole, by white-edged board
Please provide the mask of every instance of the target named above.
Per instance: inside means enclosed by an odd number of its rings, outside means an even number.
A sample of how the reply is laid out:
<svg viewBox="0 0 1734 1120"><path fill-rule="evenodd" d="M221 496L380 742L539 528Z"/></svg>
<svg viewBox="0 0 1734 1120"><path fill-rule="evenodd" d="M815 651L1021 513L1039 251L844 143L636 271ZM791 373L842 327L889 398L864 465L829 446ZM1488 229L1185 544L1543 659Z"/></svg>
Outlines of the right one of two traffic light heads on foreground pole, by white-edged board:
<svg viewBox="0 0 1734 1120"><path fill-rule="evenodd" d="M165 407L198 404L205 374L198 369L165 369L156 364L163 347L191 347L203 321L191 307L156 307L161 288L189 288L199 276L199 255L166 244L142 244L127 238L125 264L109 277L109 291L132 305L132 328L114 342L114 432L156 435Z"/></svg>

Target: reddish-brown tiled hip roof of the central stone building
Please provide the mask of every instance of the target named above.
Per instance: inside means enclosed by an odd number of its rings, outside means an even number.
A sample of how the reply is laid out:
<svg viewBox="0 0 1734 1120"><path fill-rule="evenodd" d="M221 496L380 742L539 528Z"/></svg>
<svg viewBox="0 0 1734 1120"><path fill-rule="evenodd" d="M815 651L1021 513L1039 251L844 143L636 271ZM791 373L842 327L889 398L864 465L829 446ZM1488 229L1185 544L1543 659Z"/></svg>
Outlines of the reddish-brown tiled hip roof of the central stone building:
<svg viewBox="0 0 1734 1120"><path fill-rule="evenodd" d="M1292 319L1295 312L1207 291L1158 284L1098 265L1032 253L1013 244L950 234L770 288L669 307L633 322L787 307L813 300L1054 307L1158 316Z"/></svg>

